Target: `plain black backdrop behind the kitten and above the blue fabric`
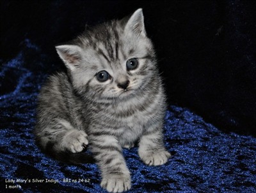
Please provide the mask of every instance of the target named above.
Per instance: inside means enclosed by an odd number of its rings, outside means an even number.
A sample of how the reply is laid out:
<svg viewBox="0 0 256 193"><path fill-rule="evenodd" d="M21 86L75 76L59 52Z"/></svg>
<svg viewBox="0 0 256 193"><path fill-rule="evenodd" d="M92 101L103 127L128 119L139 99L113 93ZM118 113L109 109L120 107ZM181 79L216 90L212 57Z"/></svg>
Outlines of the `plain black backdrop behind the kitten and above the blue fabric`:
<svg viewBox="0 0 256 193"><path fill-rule="evenodd" d="M26 65L54 73L64 68L54 45L75 38L85 25L137 8L143 8L156 46L169 103L190 108L223 131L255 135L255 1L1 1L0 62L15 57L29 39L45 61L36 66L28 53ZM14 86L1 83L1 94Z"/></svg>

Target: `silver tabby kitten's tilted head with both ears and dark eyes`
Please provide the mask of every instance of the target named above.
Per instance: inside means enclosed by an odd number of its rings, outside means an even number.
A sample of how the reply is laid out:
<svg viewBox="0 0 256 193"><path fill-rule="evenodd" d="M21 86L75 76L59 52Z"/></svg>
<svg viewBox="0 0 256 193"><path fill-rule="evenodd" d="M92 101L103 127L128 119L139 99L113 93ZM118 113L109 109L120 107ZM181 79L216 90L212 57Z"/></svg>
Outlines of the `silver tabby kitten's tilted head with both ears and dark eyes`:
<svg viewBox="0 0 256 193"><path fill-rule="evenodd" d="M56 50L76 90L95 99L135 96L148 90L157 71L141 9L129 18L97 25Z"/></svg>

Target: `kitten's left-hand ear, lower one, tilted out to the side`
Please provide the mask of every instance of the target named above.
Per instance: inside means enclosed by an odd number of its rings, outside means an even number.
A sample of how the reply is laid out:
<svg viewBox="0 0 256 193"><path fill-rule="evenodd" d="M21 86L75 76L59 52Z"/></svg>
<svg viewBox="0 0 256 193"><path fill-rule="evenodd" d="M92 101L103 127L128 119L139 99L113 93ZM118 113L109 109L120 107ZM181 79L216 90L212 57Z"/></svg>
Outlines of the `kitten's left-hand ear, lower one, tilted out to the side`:
<svg viewBox="0 0 256 193"><path fill-rule="evenodd" d="M60 58L66 64L67 68L74 70L81 64L81 48L76 45L61 45L55 47Z"/></svg>

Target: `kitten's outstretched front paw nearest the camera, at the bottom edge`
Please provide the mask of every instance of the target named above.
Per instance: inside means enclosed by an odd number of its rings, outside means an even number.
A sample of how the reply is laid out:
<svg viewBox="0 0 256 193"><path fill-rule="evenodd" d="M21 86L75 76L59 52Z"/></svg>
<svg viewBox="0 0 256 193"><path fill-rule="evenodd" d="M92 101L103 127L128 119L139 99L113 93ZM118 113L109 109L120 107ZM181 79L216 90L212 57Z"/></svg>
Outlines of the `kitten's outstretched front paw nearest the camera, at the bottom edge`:
<svg viewBox="0 0 256 193"><path fill-rule="evenodd" d="M124 192L131 189L130 175L108 175L102 178L100 186L108 192Z"/></svg>

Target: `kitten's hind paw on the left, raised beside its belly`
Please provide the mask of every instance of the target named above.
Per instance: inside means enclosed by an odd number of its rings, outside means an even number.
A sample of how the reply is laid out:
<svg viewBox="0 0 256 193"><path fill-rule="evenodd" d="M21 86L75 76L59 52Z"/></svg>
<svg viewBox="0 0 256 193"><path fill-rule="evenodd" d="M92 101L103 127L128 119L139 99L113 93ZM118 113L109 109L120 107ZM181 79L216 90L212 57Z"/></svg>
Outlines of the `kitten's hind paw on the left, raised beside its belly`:
<svg viewBox="0 0 256 193"><path fill-rule="evenodd" d="M68 132L61 142L63 149L72 153L82 152L86 145L88 145L88 135L81 130Z"/></svg>

